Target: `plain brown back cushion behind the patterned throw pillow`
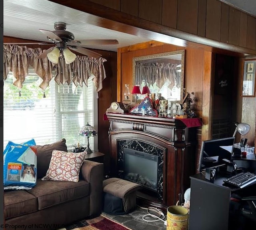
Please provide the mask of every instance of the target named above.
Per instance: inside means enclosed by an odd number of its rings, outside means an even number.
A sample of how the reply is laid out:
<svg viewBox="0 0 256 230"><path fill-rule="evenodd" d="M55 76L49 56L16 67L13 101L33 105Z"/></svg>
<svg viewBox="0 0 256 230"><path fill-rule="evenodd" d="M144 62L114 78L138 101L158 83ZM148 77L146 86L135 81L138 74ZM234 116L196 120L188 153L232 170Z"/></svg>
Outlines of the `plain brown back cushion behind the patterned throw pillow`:
<svg viewBox="0 0 256 230"><path fill-rule="evenodd" d="M37 178L45 176L49 168L53 150L67 152L66 139L63 138L62 140L43 146L37 145Z"/></svg>

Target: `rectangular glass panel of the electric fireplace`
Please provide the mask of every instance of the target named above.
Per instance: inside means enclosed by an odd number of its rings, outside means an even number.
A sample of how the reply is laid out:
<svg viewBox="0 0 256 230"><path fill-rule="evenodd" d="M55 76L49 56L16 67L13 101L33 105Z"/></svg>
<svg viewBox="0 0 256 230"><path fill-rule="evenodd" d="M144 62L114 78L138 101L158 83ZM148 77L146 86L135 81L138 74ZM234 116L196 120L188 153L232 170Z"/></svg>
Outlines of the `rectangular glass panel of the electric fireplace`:
<svg viewBox="0 0 256 230"><path fill-rule="evenodd" d="M124 148L124 178L157 191L158 156Z"/></svg>

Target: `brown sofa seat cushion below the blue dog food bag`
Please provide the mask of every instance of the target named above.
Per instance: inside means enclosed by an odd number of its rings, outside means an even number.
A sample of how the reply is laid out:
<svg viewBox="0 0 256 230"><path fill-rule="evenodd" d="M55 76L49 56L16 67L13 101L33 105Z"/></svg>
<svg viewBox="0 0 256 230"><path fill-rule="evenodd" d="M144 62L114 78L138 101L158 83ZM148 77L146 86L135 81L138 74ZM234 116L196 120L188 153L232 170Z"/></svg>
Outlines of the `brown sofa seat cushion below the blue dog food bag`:
<svg viewBox="0 0 256 230"><path fill-rule="evenodd" d="M37 198L24 190L4 191L4 218L21 216L38 210Z"/></svg>

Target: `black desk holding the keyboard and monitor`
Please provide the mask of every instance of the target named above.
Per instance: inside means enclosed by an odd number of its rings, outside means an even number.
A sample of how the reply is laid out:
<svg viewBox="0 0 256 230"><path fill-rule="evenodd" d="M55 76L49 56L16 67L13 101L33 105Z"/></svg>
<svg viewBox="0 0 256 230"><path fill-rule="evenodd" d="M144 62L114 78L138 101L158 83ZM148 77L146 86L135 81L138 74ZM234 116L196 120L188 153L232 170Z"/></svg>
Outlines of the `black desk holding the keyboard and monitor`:
<svg viewBox="0 0 256 230"><path fill-rule="evenodd" d="M228 230L230 196L245 188L231 188L223 180L231 174L216 172L216 179L210 182L202 173L190 176L190 214L189 230Z"/></svg>

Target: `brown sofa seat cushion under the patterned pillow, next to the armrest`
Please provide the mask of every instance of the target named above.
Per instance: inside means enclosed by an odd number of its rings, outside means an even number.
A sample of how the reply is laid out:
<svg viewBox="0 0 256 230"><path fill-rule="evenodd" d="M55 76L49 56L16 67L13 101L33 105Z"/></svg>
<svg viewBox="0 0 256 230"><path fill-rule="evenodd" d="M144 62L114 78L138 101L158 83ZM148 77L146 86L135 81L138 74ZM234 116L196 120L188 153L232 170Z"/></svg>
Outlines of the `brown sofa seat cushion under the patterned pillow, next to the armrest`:
<svg viewBox="0 0 256 230"><path fill-rule="evenodd" d="M70 200L76 200L88 196L90 184L85 180L78 182L39 180L36 187L28 190L38 199L38 210L61 204Z"/></svg>

